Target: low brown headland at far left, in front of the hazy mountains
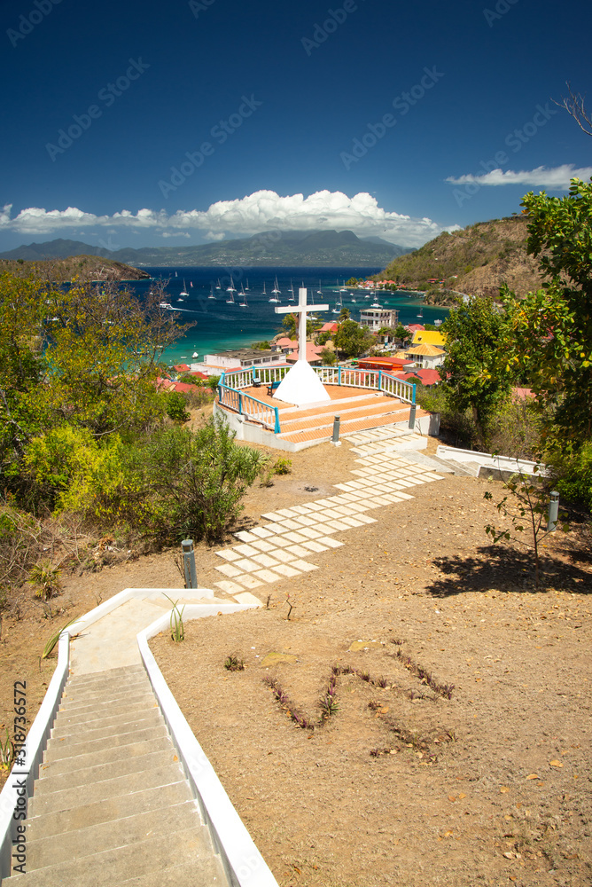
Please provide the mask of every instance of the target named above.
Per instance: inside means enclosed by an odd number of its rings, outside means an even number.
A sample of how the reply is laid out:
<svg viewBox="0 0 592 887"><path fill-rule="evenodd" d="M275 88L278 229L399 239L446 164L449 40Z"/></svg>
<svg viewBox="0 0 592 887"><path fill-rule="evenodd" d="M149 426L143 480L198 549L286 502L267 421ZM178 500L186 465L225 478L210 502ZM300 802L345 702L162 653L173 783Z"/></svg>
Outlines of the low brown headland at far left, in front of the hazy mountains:
<svg viewBox="0 0 592 887"><path fill-rule="evenodd" d="M67 241L66 241L67 242ZM144 280L150 275L113 259L98 255L74 255L65 259L27 262L24 259L0 258L0 272L10 271L17 277L33 277L62 283L77 277L83 283L94 280Z"/></svg>

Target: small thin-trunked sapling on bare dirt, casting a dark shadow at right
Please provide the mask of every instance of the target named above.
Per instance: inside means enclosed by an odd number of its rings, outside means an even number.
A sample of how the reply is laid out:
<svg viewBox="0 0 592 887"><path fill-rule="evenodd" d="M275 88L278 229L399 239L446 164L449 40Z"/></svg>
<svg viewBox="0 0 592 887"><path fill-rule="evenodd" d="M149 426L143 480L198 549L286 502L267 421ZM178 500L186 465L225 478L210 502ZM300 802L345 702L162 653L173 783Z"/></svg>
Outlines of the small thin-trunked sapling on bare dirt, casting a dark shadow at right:
<svg viewBox="0 0 592 887"><path fill-rule="evenodd" d="M541 466L534 466L534 473L540 473ZM509 501L509 495L502 498L495 506L503 517L509 517L512 525L511 530L502 530L488 523L485 531L491 536L494 543L501 539L513 540L521 545L533 549L534 553L534 587L540 587L540 565L541 558L539 554L539 544L549 530L547 529L546 515L548 509L549 490L548 483L536 483L539 478L533 480L529 475L525 475L523 471L518 470L518 474L503 482L506 490L512 494L512 500ZM488 490L484 492L483 498L492 499L493 494ZM565 523L567 515L559 514L557 526L565 533L569 531L569 526ZM522 538L521 533L528 533L529 539ZM532 542L530 541L532 538Z"/></svg>

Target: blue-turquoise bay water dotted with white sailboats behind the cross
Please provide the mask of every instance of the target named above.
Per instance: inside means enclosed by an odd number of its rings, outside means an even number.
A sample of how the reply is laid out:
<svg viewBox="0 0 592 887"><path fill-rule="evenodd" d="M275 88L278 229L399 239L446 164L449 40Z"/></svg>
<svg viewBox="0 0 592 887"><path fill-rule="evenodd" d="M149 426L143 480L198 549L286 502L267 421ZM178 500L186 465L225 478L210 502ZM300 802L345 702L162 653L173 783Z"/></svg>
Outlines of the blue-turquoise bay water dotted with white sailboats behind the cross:
<svg viewBox="0 0 592 887"><path fill-rule="evenodd" d="M235 303L228 304L226 288L230 286L230 270L214 268L144 268L152 278L167 281L167 302L175 308L181 309L178 317L181 323L190 320L197 321L187 334L180 339L175 346L164 354L168 364L191 361L194 352L198 352L202 360L206 354L214 354L223 349L239 348L250 345L253 341L269 339L277 334L282 326L282 316L274 312L275 304L269 303L271 290L277 277L278 287L281 291L279 298L282 305L288 304L290 287L293 285L296 300L298 300L298 288L308 287L308 301L314 296L315 302L329 303L330 310L319 315L326 320L335 319L331 309L335 307L339 298L339 288L343 281L351 277L367 278L371 274L382 271L381 268L249 268L232 269L232 279L238 293L235 293ZM176 272L176 274L175 274ZM189 298L183 302L177 302L179 294L183 290L183 281ZM339 281L339 283L338 283ZM220 289L216 289L220 283ZM192 286L191 286L192 285ZM263 286L266 295L263 295ZM151 286L149 280L134 280L129 284L138 294L145 293ZM208 299L208 295L214 287L215 301ZM239 302L241 287L246 291L246 308L241 308ZM248 287L248 290L247 290ZM322 290L322 296L317 294ZM360 310L368 307L373 302L373 297L364 298L360 290L348 289L342 293L343 305L351 312L354 320L359 319ZM353 301L355 300L355 302ZM433 323L436 319L444 320L448 317L448 310L432 308L426 305L423 308L423 318L417 315L421 308L421 296L418 294L380 294L379 302L385 308L396 308L399 311L401 323Z"/></svg>

